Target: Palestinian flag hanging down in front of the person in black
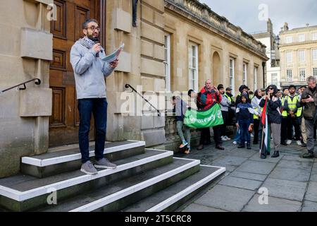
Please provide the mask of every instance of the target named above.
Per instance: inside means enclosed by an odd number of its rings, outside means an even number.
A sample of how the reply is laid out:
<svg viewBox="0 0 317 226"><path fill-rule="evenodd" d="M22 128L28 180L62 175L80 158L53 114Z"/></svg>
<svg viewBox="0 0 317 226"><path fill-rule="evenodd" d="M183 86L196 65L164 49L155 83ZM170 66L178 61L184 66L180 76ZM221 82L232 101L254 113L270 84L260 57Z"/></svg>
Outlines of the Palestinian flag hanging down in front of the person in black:
<svg viewBox="0 0 317 226"><path fill-rule="evenodd" d="M266 100L266 104L263 107L261 124L263 126L263 132L260 153L261 155L266 156L271 152L271 133L270 126L268 125L268 100Z"/></svg>

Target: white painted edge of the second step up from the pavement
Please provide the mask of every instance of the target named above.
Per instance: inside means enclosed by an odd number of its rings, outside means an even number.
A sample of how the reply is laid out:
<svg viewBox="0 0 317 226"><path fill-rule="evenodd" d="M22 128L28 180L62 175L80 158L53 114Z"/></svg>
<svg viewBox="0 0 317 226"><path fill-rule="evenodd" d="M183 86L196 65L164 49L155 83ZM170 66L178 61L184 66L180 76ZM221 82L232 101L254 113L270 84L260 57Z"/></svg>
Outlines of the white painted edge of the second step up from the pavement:
<svg viewBox="0 0 317 226"><path fill-rule="evenodd" d="M187 160L187 159L183 159ZM118 201L120 198L124 198L126 196L129 196L130 194L134 194L137 191L141 191L142 189L145 189L149 186L152 186L154 184L157 184L164 179L168 179L170 177L175 176L176 174L180 174L181 172L184 172L187 169L190 169L192 167L195 167L200 164L200 160L194 160L186 165L182 165L181 167L178 167L176 169L170 170L169 172L166 172L164 174L161 174L159 176L153 177L151 179L148 179L147 181L141 182L139 184L135 184L134 186L130 186L127 189L123 189L121 191L118 191L114 194L111 194L109 196L106 196L104 198L100 198L97 201L93 201L92 203L88 203L84 206L80 206L79 208L75 208L73 210L70 210L69 212L91 212L94 210L97 210L98 208L101 208L103 206L108 205L109 203L113 203L114 201Z"/></svg>

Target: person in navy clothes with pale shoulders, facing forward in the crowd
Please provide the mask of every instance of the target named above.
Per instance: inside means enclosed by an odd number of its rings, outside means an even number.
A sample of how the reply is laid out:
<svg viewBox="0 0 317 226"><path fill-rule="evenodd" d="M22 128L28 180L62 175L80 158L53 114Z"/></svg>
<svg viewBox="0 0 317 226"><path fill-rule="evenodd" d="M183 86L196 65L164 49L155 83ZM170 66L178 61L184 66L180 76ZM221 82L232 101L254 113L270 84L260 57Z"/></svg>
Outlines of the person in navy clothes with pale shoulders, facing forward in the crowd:
<svg viewBox="0 0 317 226"><path fill-rule="evenodd" d="M245 148L245 141L247 141L247 149L251 149L251 136L254 119L254 110L248 102L249 95L242 94L240 103L237 105L237 127L240 128L240 145L238 148Z"/></svg>

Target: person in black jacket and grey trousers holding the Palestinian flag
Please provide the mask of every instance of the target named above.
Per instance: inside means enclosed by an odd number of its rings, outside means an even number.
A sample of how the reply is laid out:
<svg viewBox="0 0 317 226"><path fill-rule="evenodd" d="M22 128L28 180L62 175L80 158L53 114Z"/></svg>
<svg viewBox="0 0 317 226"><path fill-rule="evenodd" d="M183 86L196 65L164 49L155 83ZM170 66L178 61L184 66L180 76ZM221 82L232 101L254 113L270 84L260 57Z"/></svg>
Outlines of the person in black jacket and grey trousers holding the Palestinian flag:
<svg viewBox="0 0 317 226"><path fill-rule="evenodd" d="M263 100L260 102L260 107L264 107L266 100L268 100L268 124L270 126L271 134L273 134L274 142L274 154L272 157L279 157L280 148L280 126L282 123L282 116L280 108L282 107L282 102L279 97L275 95L278 93L278 88L276 85L269 85L266 89L266 95L263 96ZM271 137L271 134L269 137ZM265 158L262 156L261 158Z"/></svg>

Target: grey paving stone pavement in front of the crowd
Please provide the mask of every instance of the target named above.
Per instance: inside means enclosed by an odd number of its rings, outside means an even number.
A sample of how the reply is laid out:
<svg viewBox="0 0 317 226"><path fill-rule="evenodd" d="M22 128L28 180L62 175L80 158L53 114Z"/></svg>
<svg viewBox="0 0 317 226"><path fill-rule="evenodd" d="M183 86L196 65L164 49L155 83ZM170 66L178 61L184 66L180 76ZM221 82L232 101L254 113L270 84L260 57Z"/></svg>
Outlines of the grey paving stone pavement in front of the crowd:
<svg viewBox="0 0 317 226"><path fill-rule="evenodd" d="M292 143L280 147L280 157L262 160L259 145L252 150L238 149L232 141L226 141L223 146L224 151L209 145L203 150L193 149L189 155L176 154L201 160L203 165L226 167L221 179L178 211L317 211L317 160L299 157L306 148Z"/></svg>

